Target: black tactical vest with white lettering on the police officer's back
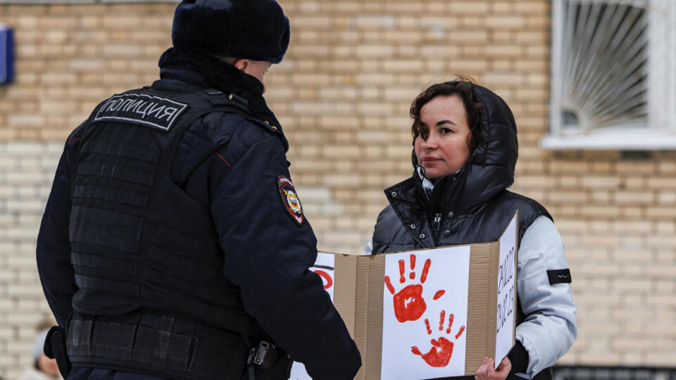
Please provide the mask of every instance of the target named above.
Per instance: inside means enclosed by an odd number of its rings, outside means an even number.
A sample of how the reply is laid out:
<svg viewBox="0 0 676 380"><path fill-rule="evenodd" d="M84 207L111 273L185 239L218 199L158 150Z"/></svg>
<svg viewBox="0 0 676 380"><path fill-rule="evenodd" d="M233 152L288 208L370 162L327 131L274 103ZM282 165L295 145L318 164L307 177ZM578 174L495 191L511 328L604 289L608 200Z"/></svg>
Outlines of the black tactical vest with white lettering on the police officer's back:
<svg viewBox="0 0 676 380"><path fill-rule="evenodd" d="M220 91L144 88L104 101L84 125L71 182L73 365L232 379L247 340L265 338L221 274L210 211L171 178L184 132L212 112L248 113Z"/></svg>

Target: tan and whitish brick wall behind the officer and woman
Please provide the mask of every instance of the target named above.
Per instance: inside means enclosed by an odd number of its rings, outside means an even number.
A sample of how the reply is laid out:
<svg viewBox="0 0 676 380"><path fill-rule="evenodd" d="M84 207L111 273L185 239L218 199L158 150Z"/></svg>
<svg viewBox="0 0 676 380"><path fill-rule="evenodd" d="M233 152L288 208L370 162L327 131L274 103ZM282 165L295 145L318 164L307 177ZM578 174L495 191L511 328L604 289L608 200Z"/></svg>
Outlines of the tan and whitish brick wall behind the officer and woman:
<svg viewBox="0 0 676 380"><path fill-rule="evenodd" d="M514 190L549 208L574 278L580 336L561 362L672 366L676 154L548 152L549 1L282 0L292 45L266 76L320 248L357 252L411 174L408 107L470 75L511 105ZM0 87L0 376L30 362L48 315L35 236L63 141L109 94L149 84L174 4L0 4L17 81Z"/></svg>

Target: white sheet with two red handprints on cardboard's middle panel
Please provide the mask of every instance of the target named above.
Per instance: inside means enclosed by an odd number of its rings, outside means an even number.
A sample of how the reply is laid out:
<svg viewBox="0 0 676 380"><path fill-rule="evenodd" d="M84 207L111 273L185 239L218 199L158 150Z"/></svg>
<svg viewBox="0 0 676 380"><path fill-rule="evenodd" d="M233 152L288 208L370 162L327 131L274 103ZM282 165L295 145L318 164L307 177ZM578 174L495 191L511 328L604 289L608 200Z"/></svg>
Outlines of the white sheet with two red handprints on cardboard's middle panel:
<svg viewBox="0 0 676 380"><path fill-rule="evenodd" d="M381 379L465 374L470 247L385 258Z"/></svg>

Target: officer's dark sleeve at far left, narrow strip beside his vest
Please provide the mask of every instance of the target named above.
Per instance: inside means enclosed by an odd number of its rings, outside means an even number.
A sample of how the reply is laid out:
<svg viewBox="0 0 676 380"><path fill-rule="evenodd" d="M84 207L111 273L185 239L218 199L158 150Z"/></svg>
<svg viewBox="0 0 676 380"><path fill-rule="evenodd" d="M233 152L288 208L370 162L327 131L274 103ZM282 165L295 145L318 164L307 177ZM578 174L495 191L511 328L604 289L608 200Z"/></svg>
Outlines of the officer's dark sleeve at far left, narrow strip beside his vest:
<svg viewBox="0 0 676 380"><path fill-rule="evenodd" d="M77 132L77 129L76 129ZM65 327L73 311L70 303L77 290L75 273L70 265L70 170L73 167L73 147L78 144L76 132L68 137L61 160L58 161L54 183L42 215L37 236L37 271L49 308L59 326Z"/></svg>

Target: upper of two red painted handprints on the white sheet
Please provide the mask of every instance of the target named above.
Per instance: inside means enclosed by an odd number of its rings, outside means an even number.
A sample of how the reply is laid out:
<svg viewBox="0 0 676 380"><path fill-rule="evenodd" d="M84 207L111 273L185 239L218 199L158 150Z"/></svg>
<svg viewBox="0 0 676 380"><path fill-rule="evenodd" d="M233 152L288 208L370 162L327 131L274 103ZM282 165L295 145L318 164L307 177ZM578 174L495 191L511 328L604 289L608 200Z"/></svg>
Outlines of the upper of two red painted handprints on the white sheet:
<svg viewBox="0 0 676 380"><path fill-rule="evenodd" d="M392 286L392 281L390 281L389 276L385 276L385 285L387 289L394 296L392 303L394 304L394 317L399 322L406 321L415 321L423 316L425 310L427 310L427 304L423 299L423 284L427 280L427 273L430 272L430 265L432 265L432 260L425 260L425 265L423 265L423 272L420 274L420 284L411 284L401 289L399 293L394 293L394 286ZM404 260L399 260L399 282L403 284L406 282L406 277L403 276L403 272L406 269L406 262ZM411 273L408 274L410 279L415 279L415 255L411 255ZM437 291L434 294L434 299L444 295L444 291Z"/></svg>

